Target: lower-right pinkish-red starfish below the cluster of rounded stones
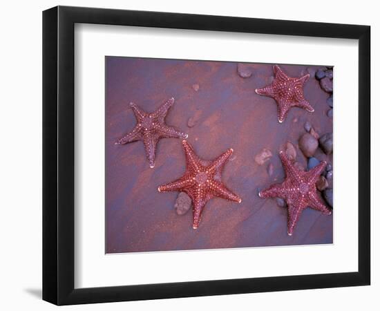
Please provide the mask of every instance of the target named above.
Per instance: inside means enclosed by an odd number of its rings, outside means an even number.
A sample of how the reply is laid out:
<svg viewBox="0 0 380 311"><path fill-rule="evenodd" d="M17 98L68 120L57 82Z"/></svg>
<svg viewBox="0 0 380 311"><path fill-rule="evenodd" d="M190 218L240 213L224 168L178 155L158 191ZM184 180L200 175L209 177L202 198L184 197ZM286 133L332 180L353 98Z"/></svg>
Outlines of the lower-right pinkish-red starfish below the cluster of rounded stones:
<svg viewBox="0 0 380 311"><path fill-rule="evenodd" d="M306 207L311 207L323 214L330 215L328 209L316 193L316 182L325 169L326 162L322 161L310 171L299 171L287 159L285 152L280 152L281 162L285 169L286 178L282 184L274 184L260 191L260 198L283 198L287 202L287 234L291 236L299 216Z"/></svg>

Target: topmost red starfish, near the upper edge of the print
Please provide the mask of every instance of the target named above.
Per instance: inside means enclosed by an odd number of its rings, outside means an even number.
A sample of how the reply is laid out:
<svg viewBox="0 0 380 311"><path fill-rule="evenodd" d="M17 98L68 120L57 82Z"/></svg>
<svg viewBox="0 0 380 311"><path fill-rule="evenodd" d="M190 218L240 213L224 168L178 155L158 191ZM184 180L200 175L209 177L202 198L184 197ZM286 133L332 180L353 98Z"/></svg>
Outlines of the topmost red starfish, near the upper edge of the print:
<svg viewBox="0 0 380 311"><path fill-rule="evenodd" d="M294 106L314 112L314 108L303 97L303 85L310 75L294 78L288 77L277 65L273 66L274 80L271 85L264 88L256 88L258 95L272 97L277 102L278 122L285 120L287 111Z"/></svg>

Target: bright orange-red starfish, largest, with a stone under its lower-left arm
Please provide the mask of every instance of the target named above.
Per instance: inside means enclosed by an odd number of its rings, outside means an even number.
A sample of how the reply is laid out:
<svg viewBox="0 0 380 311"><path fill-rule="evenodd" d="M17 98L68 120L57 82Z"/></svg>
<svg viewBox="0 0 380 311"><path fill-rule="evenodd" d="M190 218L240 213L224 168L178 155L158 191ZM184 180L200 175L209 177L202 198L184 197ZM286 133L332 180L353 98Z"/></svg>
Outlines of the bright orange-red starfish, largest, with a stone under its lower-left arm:
<svg viewBox="0 0 380 311"><path fill-rule="evenodd" d="M178 180L158 187L158 191L186 192L193 201L193 229L197 229L202 210L211 198L241 202L241 198L222 183L222 169L234 150L228 149L215 160L205 161L198 158L193 147L186 140L182 140L182 145L187 164L184 175Z"/></svg>

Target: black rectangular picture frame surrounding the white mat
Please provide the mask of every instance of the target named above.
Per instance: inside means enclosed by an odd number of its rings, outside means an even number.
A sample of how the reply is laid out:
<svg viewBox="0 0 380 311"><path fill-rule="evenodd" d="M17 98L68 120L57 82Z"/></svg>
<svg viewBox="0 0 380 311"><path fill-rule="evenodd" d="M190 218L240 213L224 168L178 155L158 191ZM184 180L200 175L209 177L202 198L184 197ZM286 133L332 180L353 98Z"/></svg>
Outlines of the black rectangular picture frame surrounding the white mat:
<svg viewBox="0 0 380 311"><path fill-rule="evenodd" d="M74 288L74 25L359 39L358 272ZM57 305L370 285L370 26L57 6L43 12L43 299Z"/></svg>

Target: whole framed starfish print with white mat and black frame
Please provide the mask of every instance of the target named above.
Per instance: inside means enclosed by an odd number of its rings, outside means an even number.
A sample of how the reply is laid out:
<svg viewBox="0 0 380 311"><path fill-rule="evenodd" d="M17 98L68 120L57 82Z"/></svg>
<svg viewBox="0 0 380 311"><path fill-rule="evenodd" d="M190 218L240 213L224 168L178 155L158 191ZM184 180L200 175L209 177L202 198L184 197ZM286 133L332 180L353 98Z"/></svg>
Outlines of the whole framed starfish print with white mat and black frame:
<svg viewBox="0 0 380 311"><path fill-rule="evenodd" d="M369 26L43 17L44 300L370 284Z"/></svg>

